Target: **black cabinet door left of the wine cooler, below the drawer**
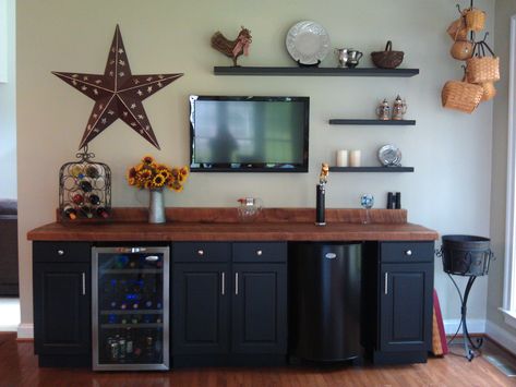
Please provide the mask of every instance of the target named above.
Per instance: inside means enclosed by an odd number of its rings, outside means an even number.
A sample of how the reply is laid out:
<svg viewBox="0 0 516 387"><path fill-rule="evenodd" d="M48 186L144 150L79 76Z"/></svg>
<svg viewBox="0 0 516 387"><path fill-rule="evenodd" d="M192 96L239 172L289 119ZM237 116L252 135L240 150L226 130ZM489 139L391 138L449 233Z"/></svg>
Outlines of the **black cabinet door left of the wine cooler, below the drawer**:
<svg viewBox="0 0 516 387"><path fill-rule="evenodd" d="M34 346L37 354L91 353L89 283L89 264L34 264Z"/></svg>

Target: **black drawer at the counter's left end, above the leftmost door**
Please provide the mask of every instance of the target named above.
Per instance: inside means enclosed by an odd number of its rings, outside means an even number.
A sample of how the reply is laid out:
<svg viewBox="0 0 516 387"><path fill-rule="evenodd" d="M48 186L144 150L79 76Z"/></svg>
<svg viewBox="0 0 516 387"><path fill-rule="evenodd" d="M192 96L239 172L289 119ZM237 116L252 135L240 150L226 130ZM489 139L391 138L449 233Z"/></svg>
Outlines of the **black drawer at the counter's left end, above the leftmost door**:
<svg viewBox="0 0 516 387"><path fill-rule="evenodd" d="M34 262L91 262L87 242L33 242Z"/></svg>

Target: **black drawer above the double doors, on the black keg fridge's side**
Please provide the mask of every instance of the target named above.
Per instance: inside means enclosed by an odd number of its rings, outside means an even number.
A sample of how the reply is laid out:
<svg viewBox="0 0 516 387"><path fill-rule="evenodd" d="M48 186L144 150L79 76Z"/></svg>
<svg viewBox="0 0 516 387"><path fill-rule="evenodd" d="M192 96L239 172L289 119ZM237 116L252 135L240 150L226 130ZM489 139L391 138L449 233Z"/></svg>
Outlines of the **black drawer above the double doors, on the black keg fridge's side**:
<svg viewBox="0 0 516 387"><path fill-rule="evenodd" d="M233 243L233 262L287 262L287 243L241 242Z"/></svg>

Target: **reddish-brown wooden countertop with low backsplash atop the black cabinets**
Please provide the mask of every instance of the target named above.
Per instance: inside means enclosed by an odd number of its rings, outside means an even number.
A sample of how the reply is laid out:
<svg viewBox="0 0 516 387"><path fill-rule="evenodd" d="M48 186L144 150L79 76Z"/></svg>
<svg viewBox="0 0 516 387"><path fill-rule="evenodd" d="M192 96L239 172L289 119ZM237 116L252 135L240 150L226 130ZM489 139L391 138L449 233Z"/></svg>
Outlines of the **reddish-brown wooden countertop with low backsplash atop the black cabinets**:
<svg viewBox="0 0 516 387"><path fill-rule="evenodd" d="M113 208L106 222L52 222L31 230L32 241L434 241L436 231L407 222L405 209L327 209L315 226L313 208L268 208L252 222L236 208L167 208L167 222L151 225L144 208Z"/></svg>

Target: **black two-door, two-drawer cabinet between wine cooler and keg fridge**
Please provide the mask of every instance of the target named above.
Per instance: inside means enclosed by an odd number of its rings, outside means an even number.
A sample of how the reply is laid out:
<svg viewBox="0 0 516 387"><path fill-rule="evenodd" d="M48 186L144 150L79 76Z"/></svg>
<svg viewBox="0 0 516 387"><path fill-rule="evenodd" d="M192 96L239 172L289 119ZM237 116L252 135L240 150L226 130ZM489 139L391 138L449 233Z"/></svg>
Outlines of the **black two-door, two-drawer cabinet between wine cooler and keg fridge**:
<svg viewBox="0 0 516 387"><path fill-rule="evenodd" d="M285 356L286 243L179 242L172 262L176 366Z"/></svg>

